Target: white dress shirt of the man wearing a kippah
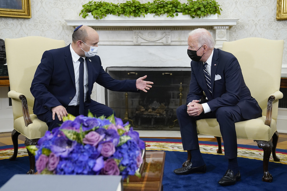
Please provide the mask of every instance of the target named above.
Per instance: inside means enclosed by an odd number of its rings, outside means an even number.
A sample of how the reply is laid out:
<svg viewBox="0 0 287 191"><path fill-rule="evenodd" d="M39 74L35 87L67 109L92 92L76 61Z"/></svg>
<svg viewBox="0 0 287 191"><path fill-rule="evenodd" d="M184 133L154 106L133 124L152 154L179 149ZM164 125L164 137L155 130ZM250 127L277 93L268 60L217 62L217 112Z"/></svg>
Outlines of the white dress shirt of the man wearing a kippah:
<svg viewBox="0 0 287 191"><path fill-rule="evenodd" d="M69 103L69 106L76 106L76 105L79 105L79 103L80 103L80 101L79 101L79 96L80 96L80 92L79 92L80 61L79 61L79 58L80 58L80 56L77 55L77 53L75 53L75 51L72 48L72 44L70 44L70 51L71 51L71 55L72 55L74 72L75 72L76 94L75 94L75 97ZM87 68L87 63L85 60L86 57L82 57L82 58L84 59L84 101L86 101L87 100L87 92L88 92L88 68Z"/></svg>

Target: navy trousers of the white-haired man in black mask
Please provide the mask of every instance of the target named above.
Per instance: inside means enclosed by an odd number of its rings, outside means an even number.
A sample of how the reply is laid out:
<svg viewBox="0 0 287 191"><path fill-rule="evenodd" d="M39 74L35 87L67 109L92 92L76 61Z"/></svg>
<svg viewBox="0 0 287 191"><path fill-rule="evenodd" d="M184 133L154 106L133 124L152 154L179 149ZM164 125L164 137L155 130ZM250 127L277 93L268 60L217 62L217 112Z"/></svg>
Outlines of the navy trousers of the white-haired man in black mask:
<svg viewBox="0 0 287 191"><path fill-rule="evenodd" d="M191 117L187 114L187 106L181 105L177 108L177 119L181 131L181 139L184 150L199 149L196 121L199 119L216 118L222 139L224 142L224 155L227 159L237 157L237 139L235 122L244 121L240 108L235 106L220 107L215 112L202 113Z"/></svg>

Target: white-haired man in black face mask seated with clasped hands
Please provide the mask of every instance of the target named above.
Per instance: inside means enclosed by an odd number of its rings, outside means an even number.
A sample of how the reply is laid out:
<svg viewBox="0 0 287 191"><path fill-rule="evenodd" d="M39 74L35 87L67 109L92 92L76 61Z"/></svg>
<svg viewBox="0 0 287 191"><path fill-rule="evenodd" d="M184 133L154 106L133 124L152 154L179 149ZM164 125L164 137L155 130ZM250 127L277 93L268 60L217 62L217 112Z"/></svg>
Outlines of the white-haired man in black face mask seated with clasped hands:
<svg viewBox="0 0 287 191"><path fill-rule="evenodd" d="M196 120L216 118L228 169L218 181L232 185L241 180L237 163L235 122L261 117L262 110L245 85L240 65L230 53L214 48L214 39L206 29L189 33L187 54L191 58L191 80L187 105L177 109L183 149L188 151L184 167L176 174L205 173L199 151ZM201 101L205 93L207 100Z"/></svg>

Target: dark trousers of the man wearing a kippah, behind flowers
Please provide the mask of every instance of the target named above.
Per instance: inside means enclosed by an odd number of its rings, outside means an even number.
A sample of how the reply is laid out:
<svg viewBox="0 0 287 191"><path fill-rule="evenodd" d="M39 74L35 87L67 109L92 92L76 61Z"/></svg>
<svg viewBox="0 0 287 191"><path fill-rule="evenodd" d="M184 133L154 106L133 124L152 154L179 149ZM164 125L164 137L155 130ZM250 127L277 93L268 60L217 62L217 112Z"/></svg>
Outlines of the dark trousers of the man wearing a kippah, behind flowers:
<svg viewBox="0 0 287 191"><path fill-rule="evenodd" d="M66 110L68 113L74 116L79 115L79 106L68 106L66 107ZM108 117L113 113L115 114L113 109L93 100L85 102L85 108L84 108L85 116L88 115L89 110L96 117L100 117L102 115ZM53 120L52 114L53 114L52 111L47 111L46 113L37 115L38 119L47 123L49 131L51 131L55 127L59 127L63 123L63 121L59 121L57 115L55 115L55 120Z"/></svg>

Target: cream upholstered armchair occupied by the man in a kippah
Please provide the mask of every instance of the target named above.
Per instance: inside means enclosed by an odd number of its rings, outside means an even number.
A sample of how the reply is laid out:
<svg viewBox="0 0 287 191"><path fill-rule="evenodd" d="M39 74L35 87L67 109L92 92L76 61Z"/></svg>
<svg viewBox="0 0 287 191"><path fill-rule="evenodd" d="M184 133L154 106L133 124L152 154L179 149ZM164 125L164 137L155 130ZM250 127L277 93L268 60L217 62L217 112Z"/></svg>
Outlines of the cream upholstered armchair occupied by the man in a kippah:
<svg viewBox="0 0 287 191"><path fill-rule="evenodd" d="M17 39L5 39L7 67L10 83L8 97L12 99L14 130L12 141L15 160L18 152L18 135L26 137L25 145L35 145L38 139L48 130L45 122L33 114L34 97L30 92L32 80L42 54L46 50L65 46L63 40L54 40L40 36L29 36ZM28 151L30 170L27 174L34 174L35 158Z"/></svg>

